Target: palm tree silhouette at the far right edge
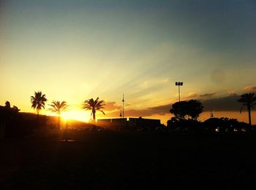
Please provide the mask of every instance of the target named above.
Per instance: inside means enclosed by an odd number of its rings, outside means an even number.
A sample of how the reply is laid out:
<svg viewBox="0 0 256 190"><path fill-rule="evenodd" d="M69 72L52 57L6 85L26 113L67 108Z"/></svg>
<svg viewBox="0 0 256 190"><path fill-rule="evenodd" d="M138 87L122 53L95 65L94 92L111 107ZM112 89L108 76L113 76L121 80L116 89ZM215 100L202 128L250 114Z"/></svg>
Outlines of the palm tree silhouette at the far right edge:
<svg viewBox="0 0 256 190"><path fill-rule="evenodd" d="M243 103L243 106L247 107L248 115L249 115L249 125L252 126L252 119L251 119L251 109L253 109L253 105L255 105L256 97L254 96L255 93L246 93L241 95L241 98L238 100L238 102ZM240 113L242 111L243 107L240 109Z"/></svg>

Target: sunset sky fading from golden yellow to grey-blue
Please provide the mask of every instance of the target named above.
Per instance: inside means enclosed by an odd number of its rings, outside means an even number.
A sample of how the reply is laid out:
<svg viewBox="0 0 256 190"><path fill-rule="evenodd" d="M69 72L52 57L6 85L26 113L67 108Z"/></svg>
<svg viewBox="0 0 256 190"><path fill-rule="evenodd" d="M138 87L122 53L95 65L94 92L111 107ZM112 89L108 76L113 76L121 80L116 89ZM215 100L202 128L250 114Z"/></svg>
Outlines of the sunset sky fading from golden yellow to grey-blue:
<svg viewBox="0 0 256 190"><path fill-rule="evenodd" d="M256 92L255 10L246 0L1 0L0 105L34 112L40 90L88 120L84 100L105 100L98 118L118 117L124 94L124 116L165 124L184 82L181 100L200 100L201 120L212 110L247 122L236 100Z"/></svg>

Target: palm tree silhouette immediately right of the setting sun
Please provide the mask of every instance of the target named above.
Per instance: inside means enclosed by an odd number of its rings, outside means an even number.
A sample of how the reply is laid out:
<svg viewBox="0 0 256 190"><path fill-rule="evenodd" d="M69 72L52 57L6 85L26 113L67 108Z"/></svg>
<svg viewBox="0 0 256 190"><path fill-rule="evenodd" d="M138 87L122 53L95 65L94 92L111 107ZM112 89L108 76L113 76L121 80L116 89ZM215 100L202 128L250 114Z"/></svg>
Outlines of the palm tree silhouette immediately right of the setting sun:
<svg viewBox="0 0 256 190"><path fill-rule="evenodd" d="M95 122L95 113L96 111L101 111L102 114L105 115L104 111L100 110L101 108L104 108L104 100L99 100L99 97L94 100L94 98L91 98L89 100L85 100L83 103L83 109L85 110L91 110L91 115L93 116L94 122Z"/></svg>

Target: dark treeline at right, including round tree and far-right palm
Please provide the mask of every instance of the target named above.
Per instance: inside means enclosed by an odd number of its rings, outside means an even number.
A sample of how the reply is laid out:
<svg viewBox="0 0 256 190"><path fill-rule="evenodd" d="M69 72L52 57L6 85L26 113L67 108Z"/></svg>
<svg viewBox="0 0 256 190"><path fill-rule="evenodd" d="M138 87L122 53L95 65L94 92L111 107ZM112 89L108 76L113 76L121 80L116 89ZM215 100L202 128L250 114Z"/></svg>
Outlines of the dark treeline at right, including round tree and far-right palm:
<svg viewBox="0 0 256 190"><path fill-rule="evenodd" d="M241 133L252 132L251 113L253 103L256 98L253 93L241 95L238 100L247 107L249 113L249 124L238 122L237 119L227 117L206 119L204 122L197 120L198 116L203 113L203 104L197 100L188 100L174 103L170 113L174 116L167 121L167 129L173 132L211 132L211 133Z"/></svg>

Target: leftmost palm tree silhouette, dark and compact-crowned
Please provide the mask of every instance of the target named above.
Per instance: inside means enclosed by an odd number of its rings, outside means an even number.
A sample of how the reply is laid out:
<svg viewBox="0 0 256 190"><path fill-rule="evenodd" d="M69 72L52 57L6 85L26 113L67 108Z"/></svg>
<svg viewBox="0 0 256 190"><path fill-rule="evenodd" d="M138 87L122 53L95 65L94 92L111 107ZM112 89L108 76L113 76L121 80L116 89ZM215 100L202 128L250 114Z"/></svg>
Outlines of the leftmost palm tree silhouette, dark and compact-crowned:
<svg viewBox="0 0 256 190"><path fill-rule="evenodd" d="M37 122L39 122L39 111L41 111L42 108L45 108L45 102L47 99L45 98L45 95L42 95L41 91L34 92L34 96L30 97L32 106L31 108L37 109Z"/></svg>

